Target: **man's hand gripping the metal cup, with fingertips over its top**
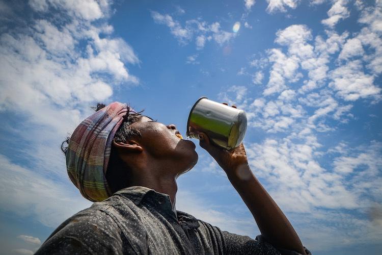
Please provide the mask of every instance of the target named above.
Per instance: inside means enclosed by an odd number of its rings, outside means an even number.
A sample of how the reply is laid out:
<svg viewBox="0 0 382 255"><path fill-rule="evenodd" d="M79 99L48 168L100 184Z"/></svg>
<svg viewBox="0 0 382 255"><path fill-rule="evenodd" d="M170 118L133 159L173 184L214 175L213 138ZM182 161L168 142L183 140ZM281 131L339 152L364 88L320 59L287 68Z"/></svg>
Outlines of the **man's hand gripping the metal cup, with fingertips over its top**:
<svg viewBox="0 0 382 255"><path fill-rule="evenodd" d="M227 105L224 103L224 105ZM232 106L236 108L236 106ZM239 166L248 166L247 154L243 143L233 150L225 150L211 143L205 133L199 132L200 146L208 151L208 153L216 160L227 174L234 173Z"/></svg>

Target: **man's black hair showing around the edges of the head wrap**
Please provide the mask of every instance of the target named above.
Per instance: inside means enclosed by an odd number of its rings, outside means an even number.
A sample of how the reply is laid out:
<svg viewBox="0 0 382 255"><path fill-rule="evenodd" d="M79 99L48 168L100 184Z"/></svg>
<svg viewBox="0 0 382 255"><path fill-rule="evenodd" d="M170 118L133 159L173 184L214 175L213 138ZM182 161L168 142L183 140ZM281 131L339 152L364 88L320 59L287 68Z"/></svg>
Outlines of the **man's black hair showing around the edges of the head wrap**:
<svg viewBox="0 0 382 255"><path fill-rule="evenodd" d="M91 107L93 110L98 111L105 107L105 104L97 103L96 107ZM130 106L128 106L130 108ZM136 122L143 111L137 113L130 113L129 109L127 114L123 116L123 122L118 128L114 138L116 142L126 142L133 136L140 136L142 134L139 130L134 129L130 125ZM70 136L67 136L65 141L61 144L61 150L66 156L66 151L68 149ZM119 157L117 149L113 146L110 152L110 159L106 170L106 180L107 184L110 186L112 193L126 188L126 184L129 182L130 169L126 166L125 162Z"/></svg>

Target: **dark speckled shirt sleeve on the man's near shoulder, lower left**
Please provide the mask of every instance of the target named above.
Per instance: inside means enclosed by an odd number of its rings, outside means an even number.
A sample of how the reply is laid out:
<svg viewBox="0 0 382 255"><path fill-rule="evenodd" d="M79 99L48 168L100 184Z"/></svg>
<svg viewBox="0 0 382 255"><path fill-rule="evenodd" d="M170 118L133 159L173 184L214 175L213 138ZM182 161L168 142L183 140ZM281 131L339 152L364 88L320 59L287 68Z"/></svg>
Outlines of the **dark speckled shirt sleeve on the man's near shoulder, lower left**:
<svg viewBox="0 0 382 255"><path fill-rule="evenodd" d="M82 211L63 222L35 254L121 254L129 247L125 247L120 232L105 212Z"/></svg>

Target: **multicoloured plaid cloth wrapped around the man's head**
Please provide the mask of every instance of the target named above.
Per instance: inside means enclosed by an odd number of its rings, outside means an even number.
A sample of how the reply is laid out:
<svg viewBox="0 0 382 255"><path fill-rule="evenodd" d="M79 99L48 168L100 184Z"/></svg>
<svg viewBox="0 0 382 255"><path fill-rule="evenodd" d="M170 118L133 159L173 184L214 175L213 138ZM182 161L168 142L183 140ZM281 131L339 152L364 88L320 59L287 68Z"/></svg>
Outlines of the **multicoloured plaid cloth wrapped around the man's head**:
<svg viewBox="0 0 382 255"><path fill-rule="evenodd" d="M112 195L106 181L113 138L127 113L126 104L114 102L86 118L74 130L66 152L66 167L72 183L93 202Z"/></svg>

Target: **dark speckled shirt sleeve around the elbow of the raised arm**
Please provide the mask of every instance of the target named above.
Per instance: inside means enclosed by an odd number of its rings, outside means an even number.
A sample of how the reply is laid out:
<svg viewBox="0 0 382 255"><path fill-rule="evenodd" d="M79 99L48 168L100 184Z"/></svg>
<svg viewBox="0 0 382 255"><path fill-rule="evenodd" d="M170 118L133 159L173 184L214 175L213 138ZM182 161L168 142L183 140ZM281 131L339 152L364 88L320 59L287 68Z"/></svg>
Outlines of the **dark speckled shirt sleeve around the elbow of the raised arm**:
<svg viewBox="0 0 382 255"><path fill-rule="evenodd" d="M299 255L300 253L292 250L277 249L261 236L252 239L248 236L232 234L226 231L222 232L226 243L227 254L281 254L281 255ZM305 247L304 247L305 248ZM310 251L305 248L307 254Z"/></svg>

